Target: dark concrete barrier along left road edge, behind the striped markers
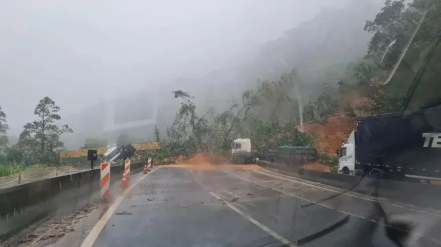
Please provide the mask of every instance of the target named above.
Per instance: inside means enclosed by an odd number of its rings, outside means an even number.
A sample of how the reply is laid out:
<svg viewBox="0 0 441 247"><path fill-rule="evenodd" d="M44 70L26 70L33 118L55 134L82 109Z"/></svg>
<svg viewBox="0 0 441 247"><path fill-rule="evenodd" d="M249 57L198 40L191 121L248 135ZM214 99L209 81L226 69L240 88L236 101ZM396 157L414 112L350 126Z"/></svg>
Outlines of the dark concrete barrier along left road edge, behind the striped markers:
<svg viewBox="0 0 441 247"><path fill-rule="evenodd" d="M132 174L143 170L142 163L133 163L130 168ZM123 171L124 165L111 166L110 183L120 182ZM60 207L99 191L99 172L99 169L87 170L1 189L0 240Z"/></svg>

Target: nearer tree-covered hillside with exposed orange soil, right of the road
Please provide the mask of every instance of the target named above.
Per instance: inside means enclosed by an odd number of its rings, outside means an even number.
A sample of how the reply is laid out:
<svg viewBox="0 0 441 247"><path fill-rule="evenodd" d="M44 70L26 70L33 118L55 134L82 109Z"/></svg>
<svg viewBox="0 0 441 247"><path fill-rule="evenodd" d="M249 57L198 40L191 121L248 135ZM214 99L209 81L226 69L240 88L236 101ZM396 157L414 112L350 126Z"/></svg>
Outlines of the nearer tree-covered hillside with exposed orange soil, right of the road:
<svg viewBox="0 0 441 247"><path fill-rule="evenodd" d="M197 114L194 97L174 91L182 103L164 138L165 149L226 152L234 139L249 137L257 150L314 146L322 162L335 164L331 156L356 127L357 117L439 102L440 90L430 88L438 89L440 10L439 1L387 0L360 27L372 34L365 55L345 70L306 83L294 67L277 80L258 80L225 111L208 108ZM309 97L304 97L305 86L314 88Z"/></svg>

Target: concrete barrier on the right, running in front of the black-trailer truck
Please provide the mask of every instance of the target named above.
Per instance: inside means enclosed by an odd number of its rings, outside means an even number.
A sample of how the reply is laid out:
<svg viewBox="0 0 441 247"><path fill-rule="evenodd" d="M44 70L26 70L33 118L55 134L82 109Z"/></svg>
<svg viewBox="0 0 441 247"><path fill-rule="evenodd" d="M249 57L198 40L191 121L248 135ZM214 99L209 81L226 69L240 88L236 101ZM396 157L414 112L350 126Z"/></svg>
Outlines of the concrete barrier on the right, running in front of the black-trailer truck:
<svg viewBox="0 0 441 247"><path fill-rule="evenodd" d="M380 179L378 191L375 192L374 180L369 177L362 178L360 176L334 172L309 170L264 161L257 161L257 165L271 171L342 188L343 190L350 190L365 195L377 193L377 196L380 198L425 208L441 209L441 186L437 185L431 186L428 184Z"/></svg>

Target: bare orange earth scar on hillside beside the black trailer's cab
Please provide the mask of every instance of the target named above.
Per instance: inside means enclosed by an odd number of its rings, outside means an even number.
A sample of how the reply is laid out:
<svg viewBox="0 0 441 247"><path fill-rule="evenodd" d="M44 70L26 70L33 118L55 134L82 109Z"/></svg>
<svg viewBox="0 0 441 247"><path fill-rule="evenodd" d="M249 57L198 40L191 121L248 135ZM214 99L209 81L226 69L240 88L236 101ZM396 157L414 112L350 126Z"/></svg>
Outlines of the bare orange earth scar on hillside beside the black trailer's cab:
<svg viewBox="0 0 441 247"><path fill-rule="evenodd" d="M343 114L334 114L328 118L326 124L305 124L303 131L317 135L315 146L318 152L336 155L337 148L347 141L349 134L356 126L355 120L349 119Z"/></svg>

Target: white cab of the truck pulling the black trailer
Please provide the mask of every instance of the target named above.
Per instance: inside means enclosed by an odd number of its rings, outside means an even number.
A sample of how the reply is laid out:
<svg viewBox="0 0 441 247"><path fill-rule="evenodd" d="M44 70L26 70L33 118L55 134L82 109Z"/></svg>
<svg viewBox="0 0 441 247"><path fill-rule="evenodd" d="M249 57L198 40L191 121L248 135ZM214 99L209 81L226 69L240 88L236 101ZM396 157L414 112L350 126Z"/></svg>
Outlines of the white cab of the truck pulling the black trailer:
<svg viewBox="0 0 441 247"><path fill-rule="evenodd" d="M355 134L357 131L353 130L347 143L337 150L337 155L339 156L339 173L351 174L355 172Z"/></svg>

